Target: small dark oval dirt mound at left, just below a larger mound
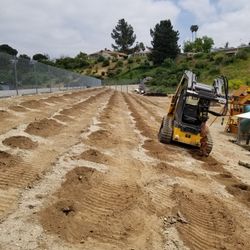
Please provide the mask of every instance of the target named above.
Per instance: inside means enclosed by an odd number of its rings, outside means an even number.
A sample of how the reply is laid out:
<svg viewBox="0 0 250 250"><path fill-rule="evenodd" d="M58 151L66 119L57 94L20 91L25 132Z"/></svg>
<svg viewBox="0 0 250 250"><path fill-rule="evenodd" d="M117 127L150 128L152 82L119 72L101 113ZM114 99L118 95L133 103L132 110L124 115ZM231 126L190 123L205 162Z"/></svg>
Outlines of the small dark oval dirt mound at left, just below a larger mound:
<svg viewBox="0 0 250 250"><path fill-rule="evenodd" d="M6 138L3 141L3 144L12 148L21 148L21 149L33 149L36 148L38 143L33 142L30 138L25 136L12 136Z"/></svg>

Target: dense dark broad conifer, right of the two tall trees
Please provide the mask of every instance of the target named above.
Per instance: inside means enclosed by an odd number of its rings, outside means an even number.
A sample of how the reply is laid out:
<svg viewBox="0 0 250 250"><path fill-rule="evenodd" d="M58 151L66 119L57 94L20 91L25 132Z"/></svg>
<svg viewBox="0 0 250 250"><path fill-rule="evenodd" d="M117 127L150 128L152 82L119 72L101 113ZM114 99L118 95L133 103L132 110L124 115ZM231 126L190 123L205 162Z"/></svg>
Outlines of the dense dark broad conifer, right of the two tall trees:
<svg viewBox="0 0 250 250"><path fill-rule="evenodd" d="M178 46L179 32L173 30L170 20L160 21L159 24L156 24L154 30L150 29L150 34L153 38L150 60L154 64L161 64L166 58L176 58L180 52Z"/></svg>

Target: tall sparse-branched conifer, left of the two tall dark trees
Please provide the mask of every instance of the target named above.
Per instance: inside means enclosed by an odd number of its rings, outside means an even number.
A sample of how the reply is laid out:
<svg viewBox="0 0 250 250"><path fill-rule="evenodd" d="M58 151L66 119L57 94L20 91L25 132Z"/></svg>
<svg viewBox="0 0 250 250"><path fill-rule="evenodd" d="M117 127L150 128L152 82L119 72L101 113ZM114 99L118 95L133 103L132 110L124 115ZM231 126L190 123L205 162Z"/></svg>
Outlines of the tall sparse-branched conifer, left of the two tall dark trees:
<svg viewBox="0 0 250 250"><path fill-rule="evenodd" d="M136 35L133 27L124 19L120 19L111 33L111 37L115 40L112 47L120 52L129 53L131 46L134 44Z"/></svg>

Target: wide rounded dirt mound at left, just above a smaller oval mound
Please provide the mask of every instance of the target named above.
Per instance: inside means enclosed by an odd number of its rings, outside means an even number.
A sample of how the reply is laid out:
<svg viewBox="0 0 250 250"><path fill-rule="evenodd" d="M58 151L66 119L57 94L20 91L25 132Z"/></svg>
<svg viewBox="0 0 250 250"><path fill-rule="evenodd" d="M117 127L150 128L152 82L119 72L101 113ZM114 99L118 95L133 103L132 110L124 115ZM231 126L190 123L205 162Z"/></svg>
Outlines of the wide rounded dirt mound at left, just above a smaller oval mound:
<svg viewBox="0 0 250 250"><path fill-rule="evenodd" d="M25 132L32 135L49 137L58 134L62 126L62 124L53 119L45 118L40 121L30 123L25 129Z"/></svg>

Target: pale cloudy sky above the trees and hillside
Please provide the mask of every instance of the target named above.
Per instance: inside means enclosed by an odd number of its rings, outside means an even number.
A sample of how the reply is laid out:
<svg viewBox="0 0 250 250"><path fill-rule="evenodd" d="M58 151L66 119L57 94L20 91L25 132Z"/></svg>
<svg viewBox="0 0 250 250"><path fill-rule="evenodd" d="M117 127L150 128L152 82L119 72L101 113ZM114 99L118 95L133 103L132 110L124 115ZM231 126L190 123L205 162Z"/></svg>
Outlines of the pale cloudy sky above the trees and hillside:
<svg viewBox="0 0 250 250"><path fill-rule="evenodd" d="M0 44L19 54L51 58L111 49L112 29L124 18L138 42L151 46L150 29L170 19L180 33L179 45L212 37L215 47L250 42L249 0L0 0Z"/></svg>

